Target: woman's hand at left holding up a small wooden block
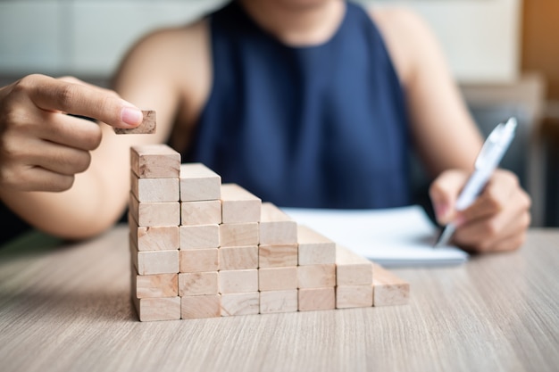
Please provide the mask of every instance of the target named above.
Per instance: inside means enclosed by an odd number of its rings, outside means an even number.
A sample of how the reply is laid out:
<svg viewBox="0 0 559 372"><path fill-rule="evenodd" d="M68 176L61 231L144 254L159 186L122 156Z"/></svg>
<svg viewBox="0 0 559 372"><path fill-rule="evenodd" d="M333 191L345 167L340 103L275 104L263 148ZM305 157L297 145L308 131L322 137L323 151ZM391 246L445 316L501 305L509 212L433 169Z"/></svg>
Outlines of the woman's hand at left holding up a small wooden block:
<svg viewBox="0 0 559 372"><path fill-rule="evenodd" d="M0 188L64 191L101 143L96 122L135 128L142 112L111 90L75 78L29 75L0 88Z"/></svg>

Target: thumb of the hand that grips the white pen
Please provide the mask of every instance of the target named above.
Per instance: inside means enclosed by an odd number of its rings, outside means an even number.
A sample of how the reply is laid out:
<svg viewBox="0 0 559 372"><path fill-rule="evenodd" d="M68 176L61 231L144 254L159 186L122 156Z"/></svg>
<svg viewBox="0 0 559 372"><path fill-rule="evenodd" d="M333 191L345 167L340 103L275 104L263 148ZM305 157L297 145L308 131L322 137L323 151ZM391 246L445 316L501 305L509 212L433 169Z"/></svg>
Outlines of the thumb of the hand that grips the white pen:
<svg viewBox="0 0 559 372"><path fill-rule="evenodd" d="M451 169L441 173L431 184L429 194L440 225L446 225L455 219L456 199L467 179L466 171Z"/></svg>

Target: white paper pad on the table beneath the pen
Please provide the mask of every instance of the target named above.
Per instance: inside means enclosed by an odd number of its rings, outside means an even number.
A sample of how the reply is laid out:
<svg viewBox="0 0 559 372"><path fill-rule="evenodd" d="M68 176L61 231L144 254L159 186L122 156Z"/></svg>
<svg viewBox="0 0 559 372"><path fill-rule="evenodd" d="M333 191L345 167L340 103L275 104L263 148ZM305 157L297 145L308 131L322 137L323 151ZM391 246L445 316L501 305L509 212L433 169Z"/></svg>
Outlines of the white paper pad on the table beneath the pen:
<svg viewBox="0 0 559 372"><path fill-rule="evenodd" d="M438 227L419 205L388 210L282 210L297 224L385 267L458 265L469 257L456 247L433 248Z"/></svg>

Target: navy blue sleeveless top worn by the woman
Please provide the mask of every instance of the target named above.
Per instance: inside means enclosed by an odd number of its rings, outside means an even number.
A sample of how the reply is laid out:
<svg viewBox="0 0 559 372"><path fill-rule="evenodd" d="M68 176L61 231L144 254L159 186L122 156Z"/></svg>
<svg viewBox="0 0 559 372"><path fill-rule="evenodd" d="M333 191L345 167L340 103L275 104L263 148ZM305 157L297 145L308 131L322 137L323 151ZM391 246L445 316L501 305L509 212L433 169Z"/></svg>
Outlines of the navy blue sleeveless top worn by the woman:
<svg viewBox="0 0 559 372"><path fill-rule="evenodd" d="M213 87L185 161L283 207L409 203L403 89L363 8L347 3L335 35L305 47L235 1L210 24Z"/></svg>

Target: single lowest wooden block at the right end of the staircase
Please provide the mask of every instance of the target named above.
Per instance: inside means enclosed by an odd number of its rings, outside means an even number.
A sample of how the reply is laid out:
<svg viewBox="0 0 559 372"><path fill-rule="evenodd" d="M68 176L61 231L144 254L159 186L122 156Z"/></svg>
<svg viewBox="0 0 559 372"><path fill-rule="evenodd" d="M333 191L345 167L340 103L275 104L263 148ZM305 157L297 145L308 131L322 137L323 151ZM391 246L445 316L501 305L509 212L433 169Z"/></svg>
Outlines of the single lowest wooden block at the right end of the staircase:
<svg viewBox="0 0 559 372"><path fill-rule="evenodd" d="M377 263L372 265L373 306L405 305L410 284Z"/></svg>

